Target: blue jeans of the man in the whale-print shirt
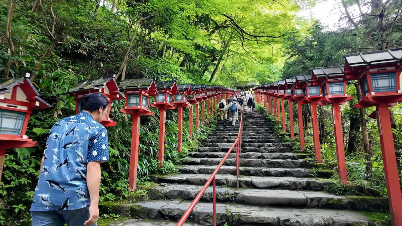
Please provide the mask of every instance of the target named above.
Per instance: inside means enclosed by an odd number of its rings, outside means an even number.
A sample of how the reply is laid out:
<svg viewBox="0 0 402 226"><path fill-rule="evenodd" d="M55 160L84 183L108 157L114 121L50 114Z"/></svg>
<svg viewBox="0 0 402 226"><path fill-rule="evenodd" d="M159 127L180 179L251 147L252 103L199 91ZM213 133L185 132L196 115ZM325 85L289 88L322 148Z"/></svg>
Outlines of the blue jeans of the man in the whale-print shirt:
<svg viewBox="0 0 402 226"><path fill-rule="evenodd" d="M89 218L89 205L79 210L31 211L32 226L84 226ZM96 226L92 224L91 226Z"/></svg>

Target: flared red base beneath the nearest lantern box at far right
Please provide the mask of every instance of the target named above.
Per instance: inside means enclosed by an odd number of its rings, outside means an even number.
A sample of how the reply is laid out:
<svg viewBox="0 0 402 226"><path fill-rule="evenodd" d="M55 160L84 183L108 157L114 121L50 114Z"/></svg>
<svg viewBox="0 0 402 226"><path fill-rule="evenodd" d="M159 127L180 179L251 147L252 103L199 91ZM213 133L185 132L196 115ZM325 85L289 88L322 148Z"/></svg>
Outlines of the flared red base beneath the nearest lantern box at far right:
<svg viewBox="0 0 402 226"><path fill-rule="evenodd" d="M402 101L402 93L367 94L367 96L362 97L360 101L355 104L355 107L373 107L377 105L397 103L400 101Z"/></svg>

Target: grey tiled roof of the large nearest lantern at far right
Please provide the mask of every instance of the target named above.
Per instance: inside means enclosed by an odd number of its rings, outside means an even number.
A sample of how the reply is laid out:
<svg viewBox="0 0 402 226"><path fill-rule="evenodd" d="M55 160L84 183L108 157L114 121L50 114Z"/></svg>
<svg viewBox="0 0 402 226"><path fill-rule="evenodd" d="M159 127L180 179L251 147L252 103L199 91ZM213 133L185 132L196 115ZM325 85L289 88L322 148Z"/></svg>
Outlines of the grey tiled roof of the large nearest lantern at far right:
<svg viewBox="0 0 402 226"><path fill-rule="evenodd" d="M343 55L342 57L345 58L345 61L351 68L398 63L402 62L402 47L364 53L352 53Z"/></svg>

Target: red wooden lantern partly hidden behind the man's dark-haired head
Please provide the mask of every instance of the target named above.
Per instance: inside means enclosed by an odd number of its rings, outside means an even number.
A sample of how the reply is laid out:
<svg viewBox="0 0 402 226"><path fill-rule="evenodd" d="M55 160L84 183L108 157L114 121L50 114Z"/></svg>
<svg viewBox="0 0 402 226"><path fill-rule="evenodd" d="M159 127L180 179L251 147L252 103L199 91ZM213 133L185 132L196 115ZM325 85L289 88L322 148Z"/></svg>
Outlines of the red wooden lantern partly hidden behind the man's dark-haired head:
<svg viewBox="0 0 402 226"><path fill-rule="evenodd" d="M124 95L119 91L119 87L114 80L113 76L103 76L99 78L90 78L88 80L82 80L78 82L78 85L68 92L70 96L75 97L76 101L76 114L81 111L81 102L88 93L100 92L107 97L108 105L107 112L105 114L105 119L103 119L100 124L105 127L115 126L117 122L110 119L110 109L114 100L124 99Z"/></svg>

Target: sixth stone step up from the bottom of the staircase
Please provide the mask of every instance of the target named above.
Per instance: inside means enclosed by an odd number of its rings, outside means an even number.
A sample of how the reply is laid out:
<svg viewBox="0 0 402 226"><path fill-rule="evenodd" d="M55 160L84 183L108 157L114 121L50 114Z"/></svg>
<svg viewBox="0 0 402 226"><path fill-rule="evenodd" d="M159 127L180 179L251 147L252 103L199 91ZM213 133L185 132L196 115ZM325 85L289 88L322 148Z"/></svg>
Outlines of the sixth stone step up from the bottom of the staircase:
<svg viewBox="0 0 402 226"><path fill-rule="evenodd" d="M189 156L193 158L223 158L226 152L189 152ZM313 154L295 154L295 153L259 153L245 152L240 154L242 158L261 158L261 159L303 159L312 157ZM230 153L228 158L236 158L236 153Z"/></svg>

